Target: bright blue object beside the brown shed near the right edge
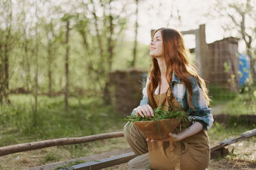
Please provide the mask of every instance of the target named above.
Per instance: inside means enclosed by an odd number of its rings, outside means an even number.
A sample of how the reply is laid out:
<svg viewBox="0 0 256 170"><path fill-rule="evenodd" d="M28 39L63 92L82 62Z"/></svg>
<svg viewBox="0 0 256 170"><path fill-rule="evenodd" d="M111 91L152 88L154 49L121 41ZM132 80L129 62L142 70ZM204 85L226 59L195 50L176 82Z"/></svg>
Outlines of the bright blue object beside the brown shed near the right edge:
<svg viewBox="0 0 256 170"><path fill-rule="evenodd" d="M248 82L250 73L250 58L248 55L239 53L239 86L241 87L244 83Z"/></svg>

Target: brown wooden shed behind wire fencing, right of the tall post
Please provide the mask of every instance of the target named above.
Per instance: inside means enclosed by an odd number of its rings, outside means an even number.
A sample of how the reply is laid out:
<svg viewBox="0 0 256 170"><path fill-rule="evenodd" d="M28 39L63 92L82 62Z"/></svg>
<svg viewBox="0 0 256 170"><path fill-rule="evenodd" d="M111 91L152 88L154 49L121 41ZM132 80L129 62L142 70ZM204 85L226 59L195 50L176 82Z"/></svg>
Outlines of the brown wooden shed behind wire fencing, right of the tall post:
<svg viewBox="0 0 256 170"><path fill-rule="evenodd" d="M223 89L239 90L238 40L224 38L208 44L207 80Z"/></svg>

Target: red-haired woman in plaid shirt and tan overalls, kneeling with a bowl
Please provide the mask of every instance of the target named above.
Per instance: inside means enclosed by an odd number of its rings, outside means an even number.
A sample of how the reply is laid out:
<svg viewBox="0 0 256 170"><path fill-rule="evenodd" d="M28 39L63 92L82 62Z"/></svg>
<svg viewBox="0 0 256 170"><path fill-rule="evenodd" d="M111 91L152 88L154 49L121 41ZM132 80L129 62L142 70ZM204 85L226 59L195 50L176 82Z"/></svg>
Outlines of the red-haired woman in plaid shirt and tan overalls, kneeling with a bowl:
<svg viewBox="0 0 256 170"><path fill-rule="evenodd" d="M134 125L126 124L124 134L137 157L129 169L200 170L209 165L210 146L207 132L213 118L205 82L188 61L182 34L175 29L157 29L150 42L152 67L143 89L140 106L132 115L154 117L154 108L182 109L189 113L188 128L175 129L170 138L152 139ZM148 154L150 150L150 154Z"/></svg>

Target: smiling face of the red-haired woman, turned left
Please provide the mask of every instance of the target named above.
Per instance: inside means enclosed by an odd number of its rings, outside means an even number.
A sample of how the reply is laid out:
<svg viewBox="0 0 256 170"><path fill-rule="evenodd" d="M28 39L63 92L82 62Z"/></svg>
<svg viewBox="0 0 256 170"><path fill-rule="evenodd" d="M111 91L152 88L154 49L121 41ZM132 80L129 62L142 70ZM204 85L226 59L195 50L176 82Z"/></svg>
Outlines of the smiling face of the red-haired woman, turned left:
<svg viewBox="0 0 256 170"><path fill-rule="evenodd" d="M151 42L150 42L150 52L149 55L151 57L161 57L163 54L163 38L161 35L161 31L157 31Z"/></svg>

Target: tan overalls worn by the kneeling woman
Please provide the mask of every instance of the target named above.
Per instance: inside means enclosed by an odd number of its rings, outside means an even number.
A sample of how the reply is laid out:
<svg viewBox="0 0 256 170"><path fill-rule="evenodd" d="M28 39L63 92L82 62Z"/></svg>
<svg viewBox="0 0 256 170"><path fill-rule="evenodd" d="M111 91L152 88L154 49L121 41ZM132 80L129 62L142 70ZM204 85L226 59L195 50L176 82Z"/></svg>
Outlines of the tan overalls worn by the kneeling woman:
<svg viewBox="0 0 256 170"><path fill-rule="evenodd" d="M170 90L167 95L173 97L170 100L172 101L171 108L179 110L180 105ZM157 106L161 104L164 110L168 110L170 105L166 101L166 93L154 94L154 98ZM179 132L180 126L178 125L174 133ZM128 162L128 169L203 170L209 165L210 146L205 131L175 142L172 146L168 141L147 143L147 137L133 124L124 126L124 134L132 150L138 155Z"/></svg>

